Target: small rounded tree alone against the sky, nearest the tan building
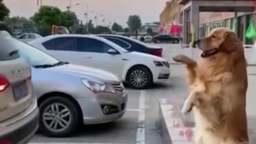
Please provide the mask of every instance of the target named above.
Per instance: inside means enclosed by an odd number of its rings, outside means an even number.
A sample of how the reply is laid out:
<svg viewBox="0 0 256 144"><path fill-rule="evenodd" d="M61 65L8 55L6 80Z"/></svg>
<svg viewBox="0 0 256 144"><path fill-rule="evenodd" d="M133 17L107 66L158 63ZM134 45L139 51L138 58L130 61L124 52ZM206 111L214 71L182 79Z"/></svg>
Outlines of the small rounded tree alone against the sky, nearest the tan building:
<svg viewBox="0 0 256 144"><path fill-rule="evenodd" d="M129 16L127 24L129 26L131 32L135 32L136 30L139 30L142 25L140 16L138 16L138 15Z"/></svg>

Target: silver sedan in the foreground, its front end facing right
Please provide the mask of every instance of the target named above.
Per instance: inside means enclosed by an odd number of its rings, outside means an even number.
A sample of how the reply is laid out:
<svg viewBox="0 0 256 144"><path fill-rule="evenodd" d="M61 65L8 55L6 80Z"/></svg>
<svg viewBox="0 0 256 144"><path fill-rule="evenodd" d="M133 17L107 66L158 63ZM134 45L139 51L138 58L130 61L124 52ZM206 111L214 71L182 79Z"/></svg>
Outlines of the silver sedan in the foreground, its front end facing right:
<svg viewBox="0 0 256 144"><path fill-rule="evenodd" d="M17 40L13 44L32 67L39 130L46 136L70 136L79 124L115 121L126 112L127 92L114 74L60 62Z"/></svg>

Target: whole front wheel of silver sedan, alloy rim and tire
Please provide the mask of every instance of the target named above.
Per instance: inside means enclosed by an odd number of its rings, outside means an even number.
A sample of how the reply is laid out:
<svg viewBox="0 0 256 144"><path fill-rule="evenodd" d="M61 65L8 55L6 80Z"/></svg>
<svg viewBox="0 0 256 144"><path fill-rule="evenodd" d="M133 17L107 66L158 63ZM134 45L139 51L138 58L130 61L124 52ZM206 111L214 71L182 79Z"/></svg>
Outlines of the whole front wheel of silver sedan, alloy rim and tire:
<svg viewBox="0 0 256 144"><path fill-rule="evenodd" d="M39 131L50 137L68 137L80 124L79 108L65 96L51 96L39 104Z"/></svg>

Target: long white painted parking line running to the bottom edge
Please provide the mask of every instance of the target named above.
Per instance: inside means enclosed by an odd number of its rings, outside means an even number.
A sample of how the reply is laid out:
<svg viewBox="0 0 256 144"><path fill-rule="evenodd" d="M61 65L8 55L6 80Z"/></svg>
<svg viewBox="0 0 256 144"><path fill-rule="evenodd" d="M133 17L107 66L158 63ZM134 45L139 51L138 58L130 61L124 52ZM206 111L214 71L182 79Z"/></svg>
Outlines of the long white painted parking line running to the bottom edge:
<svg viewBox="0 0 256 144"><path fill-rule="evenodd" d="M140 92L139 117L136 144L145 144L145 91Z"/></svg>

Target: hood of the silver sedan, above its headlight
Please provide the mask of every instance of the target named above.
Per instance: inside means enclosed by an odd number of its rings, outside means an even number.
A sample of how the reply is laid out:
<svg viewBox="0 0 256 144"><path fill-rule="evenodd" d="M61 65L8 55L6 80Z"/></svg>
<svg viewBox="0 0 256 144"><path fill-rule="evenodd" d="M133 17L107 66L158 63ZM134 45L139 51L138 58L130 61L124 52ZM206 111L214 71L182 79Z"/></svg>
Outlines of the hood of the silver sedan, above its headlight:
<svg viewBox="0 0 256 144"><path fill-rule="evenodd" d="M101 80L104 82L120 82L118 77L110 72L86 66L79 66L75 64L56 66L50 68L50 70L58 71L65 74L73 74L76 76L80 76L81 78Z"/></svg>

